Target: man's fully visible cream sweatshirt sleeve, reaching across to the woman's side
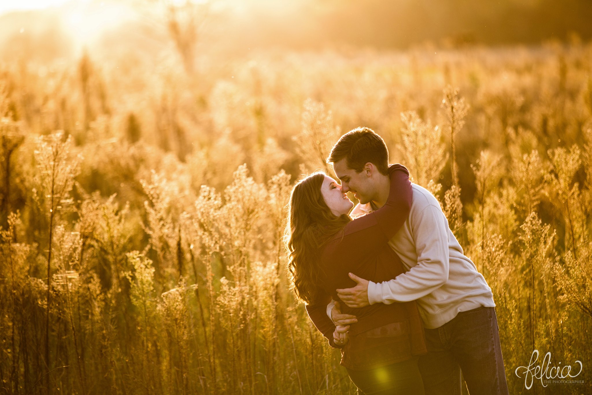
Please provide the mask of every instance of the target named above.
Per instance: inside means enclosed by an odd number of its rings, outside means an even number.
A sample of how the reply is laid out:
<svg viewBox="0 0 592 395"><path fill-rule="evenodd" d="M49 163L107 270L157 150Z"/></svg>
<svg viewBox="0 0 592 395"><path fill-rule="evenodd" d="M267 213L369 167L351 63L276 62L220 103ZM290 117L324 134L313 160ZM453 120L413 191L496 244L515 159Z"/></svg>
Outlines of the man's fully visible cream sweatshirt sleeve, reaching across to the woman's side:
<svg viewBox="0 0 592 395"><path fill-rule="evenodd" d="M417 265L392 280L368 284L370 304L417 300L448 281L448 221L433 204L411 219L415 235Z"/></svg>

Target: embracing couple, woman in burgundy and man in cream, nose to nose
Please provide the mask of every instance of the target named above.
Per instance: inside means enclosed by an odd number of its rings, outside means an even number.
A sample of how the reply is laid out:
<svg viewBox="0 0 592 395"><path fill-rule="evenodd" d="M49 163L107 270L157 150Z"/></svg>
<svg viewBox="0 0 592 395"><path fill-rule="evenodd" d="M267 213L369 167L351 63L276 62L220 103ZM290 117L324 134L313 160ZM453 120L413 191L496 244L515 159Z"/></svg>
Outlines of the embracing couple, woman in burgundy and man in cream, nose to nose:
<svg viewBox="0 0 592 395"><path fill-rule="evenodd" d="M327 162L339 183L315 172L292 190L288 269L358 393L460 395L462 371L471 395L508 394L491 288L436 198L368 128Z"/></svg>

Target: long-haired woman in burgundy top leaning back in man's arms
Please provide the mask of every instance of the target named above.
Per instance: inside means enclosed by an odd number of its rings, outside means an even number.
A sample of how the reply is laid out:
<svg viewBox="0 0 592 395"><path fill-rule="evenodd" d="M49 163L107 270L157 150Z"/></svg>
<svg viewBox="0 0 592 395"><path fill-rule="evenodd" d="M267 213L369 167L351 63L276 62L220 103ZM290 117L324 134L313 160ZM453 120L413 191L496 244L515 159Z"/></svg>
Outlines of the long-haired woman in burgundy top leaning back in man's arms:
<svg viewBox="0 0 592 395"><path fill-rule="evenodd" d="M417 359L427 352L416 303L374 304L342 313L358 322L337 329L327 317L337 288L355 285L348 273L374 282L391 280L403 272L388 240L397 233L411 207L407 169L392 165L390 193L384 207L356 219L339 184L323 172L298 182L292 190L287 226L288 269L294 290L306 303L314 325L342 349L343 365L365 394L423 394Z"/></svg>

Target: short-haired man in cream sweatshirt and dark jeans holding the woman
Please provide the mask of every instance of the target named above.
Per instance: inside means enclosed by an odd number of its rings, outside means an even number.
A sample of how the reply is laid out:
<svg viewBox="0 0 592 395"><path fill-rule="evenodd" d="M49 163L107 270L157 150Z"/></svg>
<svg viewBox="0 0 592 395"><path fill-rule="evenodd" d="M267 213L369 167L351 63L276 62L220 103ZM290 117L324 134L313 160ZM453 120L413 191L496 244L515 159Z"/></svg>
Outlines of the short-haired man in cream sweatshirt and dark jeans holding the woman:
<svg viewBox="0 0 592 395"><path fill-rule="evenodd" d="M327 159L343 192L359 200L354 216L377 210L388 197L388 176L361 172L372 162L368 158L385 166L388 150L374 131L358 128L344 134ZM436 198L412 187L410 214L389 241L407 271L379 284L350 274L358 285L337 290L339 298L350 307L417 301L428 349L419 359L426 395L461 394L461 371L471 395L507 394L491 288L464 255ZM340 313L339 303L330 303L327 314L336 325L355 322L355 316Z"/></svg>

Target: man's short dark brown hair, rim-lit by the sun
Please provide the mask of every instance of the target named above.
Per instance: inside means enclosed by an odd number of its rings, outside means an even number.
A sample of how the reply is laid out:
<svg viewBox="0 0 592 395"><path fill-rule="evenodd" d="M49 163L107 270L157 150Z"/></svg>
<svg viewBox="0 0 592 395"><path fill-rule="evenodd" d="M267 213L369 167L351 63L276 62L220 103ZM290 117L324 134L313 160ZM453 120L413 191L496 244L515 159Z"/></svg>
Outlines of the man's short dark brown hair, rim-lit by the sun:
<svg viewBox="0 0 592 395"><path fill-rule="evenodd" d="M388 175L387 144L369 127L356 127L343 134L333 146L327 163L339 162L343 158L348 168L358 173L371 162L381 174Z"/></svg>

